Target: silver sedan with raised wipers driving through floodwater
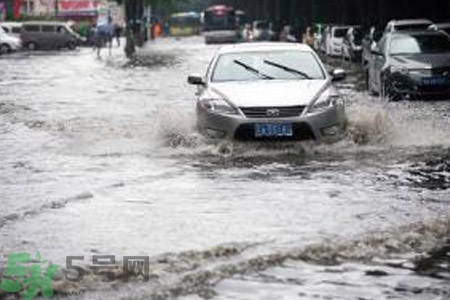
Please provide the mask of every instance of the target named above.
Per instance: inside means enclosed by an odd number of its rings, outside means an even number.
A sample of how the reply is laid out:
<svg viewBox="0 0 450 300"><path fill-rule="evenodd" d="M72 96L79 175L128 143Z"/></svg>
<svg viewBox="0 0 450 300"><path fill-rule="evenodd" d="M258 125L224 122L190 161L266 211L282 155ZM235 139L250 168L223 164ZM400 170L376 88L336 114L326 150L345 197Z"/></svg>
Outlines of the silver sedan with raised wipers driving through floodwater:
<svg viewBox="0 0 450 300"><path fill-rule="evenodd" d="M197 124L211 138L332 141L345 126L344 101L310 47L250 43L221 48L198 87Z"/></svg>

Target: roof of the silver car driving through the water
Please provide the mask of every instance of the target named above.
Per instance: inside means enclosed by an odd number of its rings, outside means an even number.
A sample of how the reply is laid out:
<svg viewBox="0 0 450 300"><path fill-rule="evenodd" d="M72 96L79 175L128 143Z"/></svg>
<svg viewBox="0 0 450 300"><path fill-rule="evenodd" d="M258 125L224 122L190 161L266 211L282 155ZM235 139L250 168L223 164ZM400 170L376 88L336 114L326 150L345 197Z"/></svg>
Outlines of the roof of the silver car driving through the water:
<svg viewBox="0 0 450 300"><path fill-rule="evenodd" d="M300 50L304 52L313 52L313 50L305 44L262 42L262 43L243 43L243 44L226 45L220 48L218 54L243 53L255 51L280 51L280 50Z"/></svg>

